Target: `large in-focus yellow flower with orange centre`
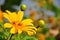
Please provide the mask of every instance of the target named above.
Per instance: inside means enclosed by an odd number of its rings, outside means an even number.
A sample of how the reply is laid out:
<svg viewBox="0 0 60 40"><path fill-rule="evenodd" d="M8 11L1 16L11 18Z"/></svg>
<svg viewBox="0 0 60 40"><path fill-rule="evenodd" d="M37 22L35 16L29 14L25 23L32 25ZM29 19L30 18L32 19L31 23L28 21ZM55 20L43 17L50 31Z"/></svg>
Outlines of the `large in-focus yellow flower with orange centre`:
<svg viewBox="0 0 60 40"><path fill-rule="evenodd" d="M33 21L31 19L22 20L24 15L23 11L18 11L18 14L8 10L6 10L6 12L7 13L4 13L4 17L7 18L10 23L5 23L4 28L11 28L11 34L21 34L22 31L27 32L28 35L33 35L36 33L37 29L33 26Z"/></svg>

